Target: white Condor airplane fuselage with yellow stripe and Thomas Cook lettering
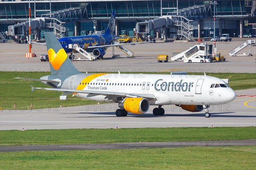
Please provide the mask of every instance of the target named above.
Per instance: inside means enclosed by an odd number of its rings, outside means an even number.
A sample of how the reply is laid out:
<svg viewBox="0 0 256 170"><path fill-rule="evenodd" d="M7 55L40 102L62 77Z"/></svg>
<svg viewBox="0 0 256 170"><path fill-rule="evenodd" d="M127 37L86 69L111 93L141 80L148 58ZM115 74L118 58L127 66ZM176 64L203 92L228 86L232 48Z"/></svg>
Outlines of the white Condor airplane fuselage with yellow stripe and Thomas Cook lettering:
<svg viewBox="0 0 256 170"><path fill-rule="evenodd" d="M44 79L46 79L45 77ZM216 87L215 87L216 85ZM235 92L221 79L195 75L75 74L58 88L84 91L152 94L150 105L219 105L233 101ZM106 95L76 96L98 102L121 102Z"/></svg>

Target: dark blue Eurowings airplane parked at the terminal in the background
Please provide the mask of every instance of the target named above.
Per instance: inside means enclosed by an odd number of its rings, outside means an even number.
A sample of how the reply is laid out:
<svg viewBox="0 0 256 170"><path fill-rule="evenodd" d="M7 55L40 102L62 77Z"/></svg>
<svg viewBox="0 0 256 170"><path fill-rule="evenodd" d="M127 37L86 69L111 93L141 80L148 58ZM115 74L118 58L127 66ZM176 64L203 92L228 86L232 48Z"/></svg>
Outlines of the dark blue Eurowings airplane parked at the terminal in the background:
<svg viewBox="0 0 256 170"><path fill-rule="evenodd" d="M112 45L113 39L117 37L113 34L115 30L115 19L116 11L113 11L105 34L63 37L59 39L59 42L66 53L73 51L72 48L68 48L69 44L78 44L80 48L83 48L87 52L92 52L93 56L97 59L103 58L109 46L120 45Z"/></svg>

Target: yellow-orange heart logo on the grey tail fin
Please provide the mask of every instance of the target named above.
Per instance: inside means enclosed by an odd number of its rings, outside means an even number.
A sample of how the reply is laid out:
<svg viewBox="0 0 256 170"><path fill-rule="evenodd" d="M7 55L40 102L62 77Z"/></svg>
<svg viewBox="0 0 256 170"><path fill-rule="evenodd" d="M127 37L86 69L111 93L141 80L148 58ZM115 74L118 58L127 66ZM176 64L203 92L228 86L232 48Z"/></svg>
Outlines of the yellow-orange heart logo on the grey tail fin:
<svg viewBox="0 0 256 170"><path fill-rule="evenodd" d="M48 50L48 57L49 62L52 64L54 70L58 70L63 64L63 62L66 60L67 53L64 51L63 48L61 48L56 54L55 51L52 48L50 48Z"/></svg>

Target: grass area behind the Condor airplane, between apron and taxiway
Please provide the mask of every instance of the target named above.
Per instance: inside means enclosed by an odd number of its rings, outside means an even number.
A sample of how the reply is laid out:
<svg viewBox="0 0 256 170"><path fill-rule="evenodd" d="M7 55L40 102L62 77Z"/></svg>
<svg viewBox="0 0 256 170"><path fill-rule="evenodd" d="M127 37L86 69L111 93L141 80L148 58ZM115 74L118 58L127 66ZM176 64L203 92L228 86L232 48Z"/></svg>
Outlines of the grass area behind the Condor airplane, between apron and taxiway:
<svg viewBox="0 0 256 170"><path fill-rule="evenodd" d="M138 72L140 73L140 72ZM65 106L77 106L77 105L93 105L97 102L87 99L80 99L77 97L68 96L68 100L60 100L59 96L62 94L57 91L44 91L35 90L31 92L30 84L35 87L49 86L29 80L14 79L15 77L26 77L39 79L42 76L49 75L49 72L0 72L0 105L4 110L15 109L16 104L18 110L28 109L31 103L33 103L33 109L42 108L57 108L60 105ZM116 74L116 73L115 73ZM127 73L122 73L125 76ZM130 72L128 74L135 74ZM144 74L170 74L169 72L145 72ZM188 74L203 74L203 73L188 73ZM221 79L230 79L230 87L233 90L242 90L249 88L256 88L256 74L250 73L207 73L207 76L214 76Z"/></svg>

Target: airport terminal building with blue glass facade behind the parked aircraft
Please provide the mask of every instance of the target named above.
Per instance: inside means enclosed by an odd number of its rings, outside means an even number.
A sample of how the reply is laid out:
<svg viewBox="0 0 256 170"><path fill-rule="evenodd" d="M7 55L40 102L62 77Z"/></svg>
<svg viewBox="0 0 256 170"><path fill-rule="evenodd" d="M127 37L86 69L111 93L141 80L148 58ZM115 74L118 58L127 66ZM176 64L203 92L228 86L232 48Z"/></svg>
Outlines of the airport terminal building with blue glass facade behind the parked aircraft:
<svg viewBox="0 0 256 170"><path fill-rule="evenodd" d="M256 33L256 0L30 0L30 6L32 20L37 20L31 28L38 39L43 31L64 37L105 30L113 10L116 35L124 30L131 36L137 28L157 37L163 32L167 38L213 37L214 14L216 36ZM165 18L164 23L159 18ZM28 19L29 0L1 0L1 32L16 25L12 34L23 34L26 24L18 26Z"/></svg>

